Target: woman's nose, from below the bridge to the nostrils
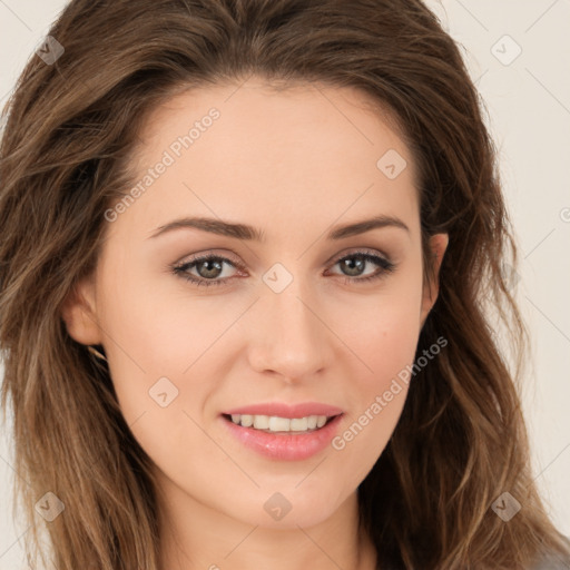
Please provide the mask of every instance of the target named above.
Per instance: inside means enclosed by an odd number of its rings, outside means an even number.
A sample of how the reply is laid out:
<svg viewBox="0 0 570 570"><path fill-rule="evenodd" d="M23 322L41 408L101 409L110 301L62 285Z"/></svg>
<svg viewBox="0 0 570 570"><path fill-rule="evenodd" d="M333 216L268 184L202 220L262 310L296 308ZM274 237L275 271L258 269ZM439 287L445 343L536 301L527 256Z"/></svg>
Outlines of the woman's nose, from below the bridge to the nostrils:
<svg viewBox="0 0 570 570"><path fill-rule="evenodd" d="M322 304L302 292L294 279L281 292L263 292L248 335L249 365L294 383L322 372L333 357L334 334ZM321 311L320 311L321 309Z"/></svg>

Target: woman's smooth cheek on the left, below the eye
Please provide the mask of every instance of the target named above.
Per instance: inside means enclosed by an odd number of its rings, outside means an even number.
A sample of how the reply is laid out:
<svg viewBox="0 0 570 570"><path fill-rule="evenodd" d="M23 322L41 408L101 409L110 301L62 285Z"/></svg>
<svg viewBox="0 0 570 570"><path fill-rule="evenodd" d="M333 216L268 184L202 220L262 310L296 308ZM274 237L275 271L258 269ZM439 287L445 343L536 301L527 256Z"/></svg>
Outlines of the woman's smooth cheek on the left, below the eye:
<svg viewBox="0 0 570 570"><path fill-rule="evenodd" d="M219 323L196 326L189 311L180 308L184 299L170 299L177 311L163 299L156 291L147 295L132 287L108 305L112 383L125 422L156 464L207 472L205 458L219 450L198 425L204 403L216 390L215 374L207 374L212 362L206 351L219 335Z"/></svg>

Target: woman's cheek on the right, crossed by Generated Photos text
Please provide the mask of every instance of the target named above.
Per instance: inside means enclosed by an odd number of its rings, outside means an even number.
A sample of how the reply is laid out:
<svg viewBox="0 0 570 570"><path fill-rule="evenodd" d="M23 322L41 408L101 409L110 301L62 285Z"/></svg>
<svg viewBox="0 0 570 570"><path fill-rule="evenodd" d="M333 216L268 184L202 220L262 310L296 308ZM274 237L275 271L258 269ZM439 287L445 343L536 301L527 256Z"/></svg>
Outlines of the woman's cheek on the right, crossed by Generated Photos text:
<svg viewBox="0 0 570 570"><path fill-rule="evenodd" d="M420 275L420 274L417 274ZM364 478L387 444L413 381L420 335L419 279L402 281L385 289L366 309L360 324L346 330L360 365L351 375L353 411L333 449L351 458L356 479ZM355 308L355 307L353 307Z"/></svg>

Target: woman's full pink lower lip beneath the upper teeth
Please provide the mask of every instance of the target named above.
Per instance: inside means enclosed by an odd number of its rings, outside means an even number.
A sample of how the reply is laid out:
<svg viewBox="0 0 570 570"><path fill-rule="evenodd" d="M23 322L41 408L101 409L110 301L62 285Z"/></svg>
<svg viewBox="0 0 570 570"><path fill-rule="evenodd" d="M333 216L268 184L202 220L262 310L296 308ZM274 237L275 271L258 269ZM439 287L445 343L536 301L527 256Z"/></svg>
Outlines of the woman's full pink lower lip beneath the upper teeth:
<svg viewBox="0 0 570 570"><path fill-rule="evenodd" d="M335 436L343 414L323 428L309 433L267 433L254 428L243 428L222 416L227 429L246 448L271 459L299 461L322 452Z"/></svg>

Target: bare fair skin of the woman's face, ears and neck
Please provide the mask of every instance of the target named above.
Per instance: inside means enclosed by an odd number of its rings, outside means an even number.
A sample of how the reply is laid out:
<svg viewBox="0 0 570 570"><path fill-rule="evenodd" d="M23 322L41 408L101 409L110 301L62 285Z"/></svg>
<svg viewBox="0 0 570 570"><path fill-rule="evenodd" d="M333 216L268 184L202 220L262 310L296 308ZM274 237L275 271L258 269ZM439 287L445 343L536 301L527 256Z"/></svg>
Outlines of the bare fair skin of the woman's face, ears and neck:
<svg viewBox="0 0 570 570"><path fill-rule="evenodd" d="M164 568L375 568L372 543L357 532L356 489L396 425L405 385L342 451L302 461L244 448L219 415L316 401L345 412L342 433L414 362L438 282L422 287L410 150L370 102L352 88L276 92L256 79L174 97L146 124L141 176L186 125L212 107L220 117L109 223L96 272L65 306L70 335L104 345L125 420L155 463ZM389 149L407 161L395 179L376 167ZM381 214L409 232L325 238L333 226ZM248 224L265 242L196 228L149 237L183 216ZM446 234L431 238L436 274L446 245ZM358 283L377 265L358 274L337 262L362 249L395 271ZM168 267L212 252L242 266L223 265L214 278L236 276L224 285L198 287ZM262 278L275 263L293 276L281 293ZM204 265L188 271L212 275ZM166 407L148 393L163 376L178 389ZM292 505L279 521L264 510L275 492Z"/></svg>

